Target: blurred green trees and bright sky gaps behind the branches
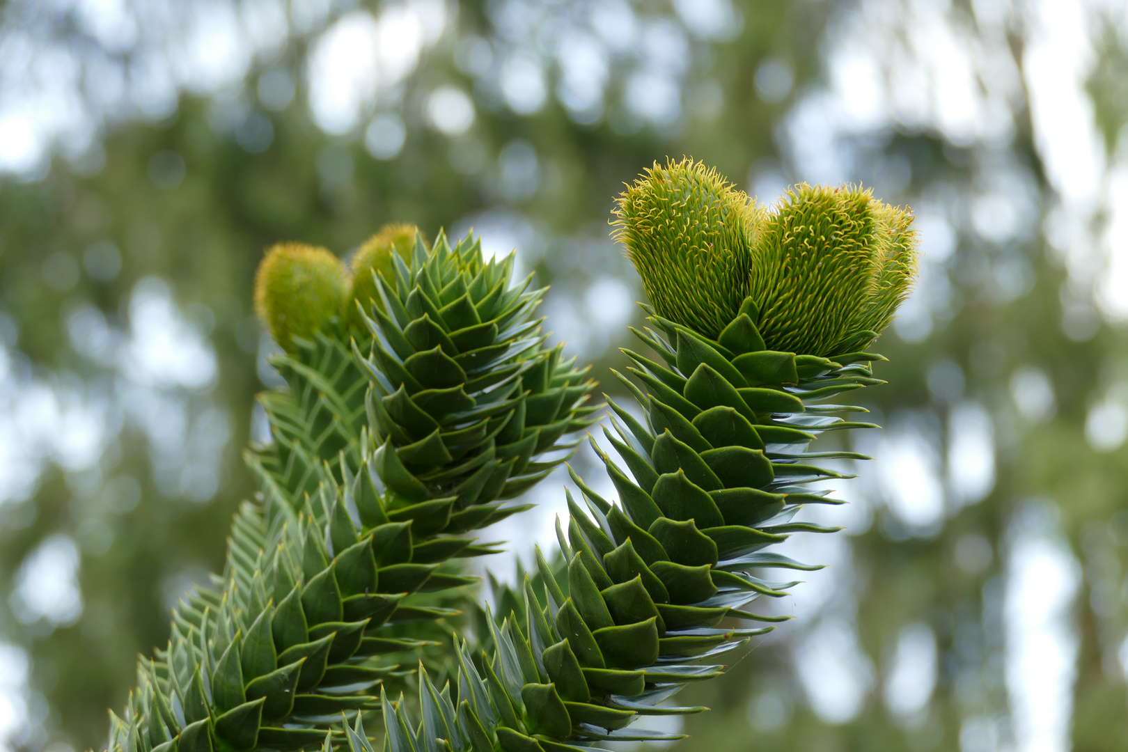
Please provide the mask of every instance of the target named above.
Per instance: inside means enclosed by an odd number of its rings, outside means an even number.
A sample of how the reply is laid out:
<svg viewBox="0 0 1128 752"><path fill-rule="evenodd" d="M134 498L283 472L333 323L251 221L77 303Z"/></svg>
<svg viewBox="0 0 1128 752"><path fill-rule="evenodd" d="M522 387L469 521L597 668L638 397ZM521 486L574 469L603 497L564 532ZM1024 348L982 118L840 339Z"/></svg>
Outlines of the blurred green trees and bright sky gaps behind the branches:
<svg viewBox="0 0 1128 752"><path fill-rule="evenodd" d="M713 711L676 749L1128 749L1122 3L0 12L6 749L100 747L168 605L221 565L277 379L250 311L270 244L473 227L553 285L548 327L616 389L642 292L611 200L684 153L763 202L872 186L914 207L925 262L866 390L880 459L819 515L847 534L794 541L832 566L691 690ZM522 523L540 540L565 477Z"/></svg>

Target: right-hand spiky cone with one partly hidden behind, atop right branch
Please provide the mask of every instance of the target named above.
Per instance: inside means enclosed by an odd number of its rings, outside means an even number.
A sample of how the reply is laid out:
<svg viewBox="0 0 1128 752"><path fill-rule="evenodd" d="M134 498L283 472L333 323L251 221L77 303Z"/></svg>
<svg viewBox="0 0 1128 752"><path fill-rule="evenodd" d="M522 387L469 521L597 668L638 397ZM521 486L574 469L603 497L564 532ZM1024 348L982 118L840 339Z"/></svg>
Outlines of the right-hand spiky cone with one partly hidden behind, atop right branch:
<svg viewBox="0 0 1128 752"><path fill-rule="evenodd" d="M788 191L752 254L749 294L768 346L835 355L874 339L916 275L911 221L860 187Z"/></svg>

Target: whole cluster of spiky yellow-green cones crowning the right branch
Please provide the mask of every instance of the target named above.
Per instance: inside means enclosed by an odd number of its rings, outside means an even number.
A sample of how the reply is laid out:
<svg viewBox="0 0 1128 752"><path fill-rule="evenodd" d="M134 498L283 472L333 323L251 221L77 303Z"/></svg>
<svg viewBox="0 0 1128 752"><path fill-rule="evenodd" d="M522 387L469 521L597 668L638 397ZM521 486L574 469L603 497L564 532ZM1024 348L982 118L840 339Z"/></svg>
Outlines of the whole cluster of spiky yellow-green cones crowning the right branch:
<svg viewBox="0 0 1128 752"><path fill-rule="evenodd" d="M768 350L857 350L889 326L916 276L913 214L861 187L803 184L764 210L684 159L655 162L615 214L654 311L714 339L751 297Z"/></svg>

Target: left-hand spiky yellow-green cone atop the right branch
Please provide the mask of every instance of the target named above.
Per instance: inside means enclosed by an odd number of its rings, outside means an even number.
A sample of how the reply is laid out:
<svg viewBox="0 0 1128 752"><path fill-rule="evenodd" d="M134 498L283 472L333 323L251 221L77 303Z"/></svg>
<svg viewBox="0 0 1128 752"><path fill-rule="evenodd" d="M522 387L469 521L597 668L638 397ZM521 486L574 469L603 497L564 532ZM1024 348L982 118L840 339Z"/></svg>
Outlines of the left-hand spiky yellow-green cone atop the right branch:
<svg viewBox="0 0 1128 752"><path fill-rule="evenodd" d="M659 316L716 338L748 294L760 213L702 162L654 162L619 195L615 239Z"/></svg>

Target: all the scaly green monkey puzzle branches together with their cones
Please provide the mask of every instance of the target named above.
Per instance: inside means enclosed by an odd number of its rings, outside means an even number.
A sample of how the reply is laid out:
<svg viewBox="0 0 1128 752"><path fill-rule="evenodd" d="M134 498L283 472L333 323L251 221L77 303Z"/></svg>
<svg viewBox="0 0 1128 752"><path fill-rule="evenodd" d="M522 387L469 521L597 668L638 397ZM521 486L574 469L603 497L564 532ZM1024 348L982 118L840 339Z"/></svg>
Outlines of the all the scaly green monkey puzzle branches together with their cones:
<svg viewBox="0 0 1128 752"><path fill-rule="evenodd" d="M488 651L456 634L446 660L424 648L458 629L473 581L451 563L494 550L466 533L527 508L508 501L598 418L594 383L545 346L541 291L470 238L428 248L388 228L350 272L300 245L267 255L256 304L289 388L262 398L262 493L224 575L142 661L113 752L557 752L669 738L633 724L705 709L666 700L786 618L752 604L797 583L764 573L819 567L773 547L834 532L796 521L839 503L809 484L848 477L828 460L866 459L810 444L875 427L827 400L881 383L869 348L916 274L913 218L848 186L758 206L688 159L655 163L616 216L650 322L613 371L636 402L607 398L618 458L591 440L617 497L572 471L580 498L521 608L491 616Z"/></svg>

